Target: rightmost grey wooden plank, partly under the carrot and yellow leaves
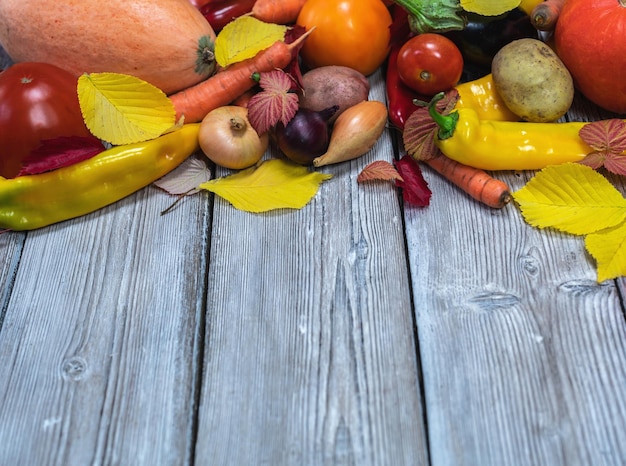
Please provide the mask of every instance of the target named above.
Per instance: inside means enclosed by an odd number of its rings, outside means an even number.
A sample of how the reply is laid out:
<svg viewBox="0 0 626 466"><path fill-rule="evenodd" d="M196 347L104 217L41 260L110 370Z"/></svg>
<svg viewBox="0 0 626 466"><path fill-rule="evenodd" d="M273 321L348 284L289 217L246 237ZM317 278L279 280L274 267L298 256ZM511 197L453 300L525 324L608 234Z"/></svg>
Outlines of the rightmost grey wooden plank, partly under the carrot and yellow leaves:
<svg viewBox="0 0 626 466"><path fill-rule="evenodd" d="M582 238L425 173L433 203L405 215L432 464L624 464L616 283L596 283ZM531 175L496 176L519 189Z"/></svg>

